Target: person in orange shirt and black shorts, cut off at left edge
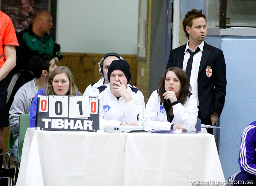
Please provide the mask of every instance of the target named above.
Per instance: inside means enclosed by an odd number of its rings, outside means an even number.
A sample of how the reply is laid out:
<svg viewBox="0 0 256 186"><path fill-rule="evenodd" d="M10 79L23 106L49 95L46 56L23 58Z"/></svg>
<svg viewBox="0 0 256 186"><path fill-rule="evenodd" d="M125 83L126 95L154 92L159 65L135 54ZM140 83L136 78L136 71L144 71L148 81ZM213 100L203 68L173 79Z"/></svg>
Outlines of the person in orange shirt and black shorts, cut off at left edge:
<svg viewBox="0 0 256 186"><path fill-rule="evenodd" d="M9 126L6 105L7 85L5 76L16 65L15 46L19 46L10 17L0 11L0 170L3 165L4 127Z"/></svg>

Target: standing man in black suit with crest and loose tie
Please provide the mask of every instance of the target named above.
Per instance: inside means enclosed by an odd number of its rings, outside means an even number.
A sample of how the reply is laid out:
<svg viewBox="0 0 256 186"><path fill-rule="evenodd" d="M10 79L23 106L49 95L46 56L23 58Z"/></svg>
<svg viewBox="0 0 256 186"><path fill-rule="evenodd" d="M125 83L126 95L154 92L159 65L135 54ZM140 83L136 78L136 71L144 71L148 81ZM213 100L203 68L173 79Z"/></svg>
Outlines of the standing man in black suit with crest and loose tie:
<svg viewBox="0 0 256 186"><path fill-rule="evenodd" d="M198 118L214 124L221 115L226 96L226 64L222 50L204 42L206 16L202 10L188 11L183 20L188 43L171 50L167 68L180 67L189 76L192 94L197 97ZM208 130L212 134L212 130Z"/></svg>

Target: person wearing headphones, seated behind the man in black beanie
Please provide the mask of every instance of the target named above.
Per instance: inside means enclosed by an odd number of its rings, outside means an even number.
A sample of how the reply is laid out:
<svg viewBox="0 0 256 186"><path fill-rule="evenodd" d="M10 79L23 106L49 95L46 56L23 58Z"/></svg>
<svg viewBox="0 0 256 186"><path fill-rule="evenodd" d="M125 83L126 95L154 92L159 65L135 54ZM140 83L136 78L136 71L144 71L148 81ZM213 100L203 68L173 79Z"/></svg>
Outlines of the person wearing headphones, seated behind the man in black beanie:
<svg viewBox="0 0 256 186"><path fill-rule="evenodd" d="M99 74L101 74L102 77L101 79L98 80L98 82L90 84L84 91L83 96L91 96L92 92L96 88L109 83L109 80L108 80L109 65L112 63L113 60L118 60L118 59L123 59L123 58L119 54L114 52L105 54L101 58L101 61L98 64L99 64ZM101 62L102 62L102 65L101 65Z"/></svg>

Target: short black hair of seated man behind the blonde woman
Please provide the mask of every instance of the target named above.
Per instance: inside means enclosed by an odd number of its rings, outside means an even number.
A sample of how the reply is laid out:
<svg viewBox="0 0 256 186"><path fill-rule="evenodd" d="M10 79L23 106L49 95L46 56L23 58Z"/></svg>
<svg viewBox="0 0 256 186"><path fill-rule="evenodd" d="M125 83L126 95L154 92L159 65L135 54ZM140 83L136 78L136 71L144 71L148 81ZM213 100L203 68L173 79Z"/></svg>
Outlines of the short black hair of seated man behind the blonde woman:
<svg viewBox="0 0 256 186"><path fill-rule="evenodd" d="M53 59L53 55L50 54L38 54L33 56L29 61L31 71L34 73L35 78L39 78L43 70L49 72L50 61Z"/></svg>

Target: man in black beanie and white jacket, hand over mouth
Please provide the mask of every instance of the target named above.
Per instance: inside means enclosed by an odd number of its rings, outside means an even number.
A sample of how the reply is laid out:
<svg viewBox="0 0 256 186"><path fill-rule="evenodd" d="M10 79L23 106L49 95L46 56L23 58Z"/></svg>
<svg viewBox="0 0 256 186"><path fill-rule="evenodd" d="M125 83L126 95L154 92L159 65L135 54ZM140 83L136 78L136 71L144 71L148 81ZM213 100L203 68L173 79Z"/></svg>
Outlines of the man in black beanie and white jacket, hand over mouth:
<svg viewBox="0 0 256 186"><path fill-rule="evenodd" d="M130 65L125 60L114 60L108 69L109 84L96 88L98 96L99 129L105 125L142 125L144 96L138 88L128 86L131 80Z"/></svg>

